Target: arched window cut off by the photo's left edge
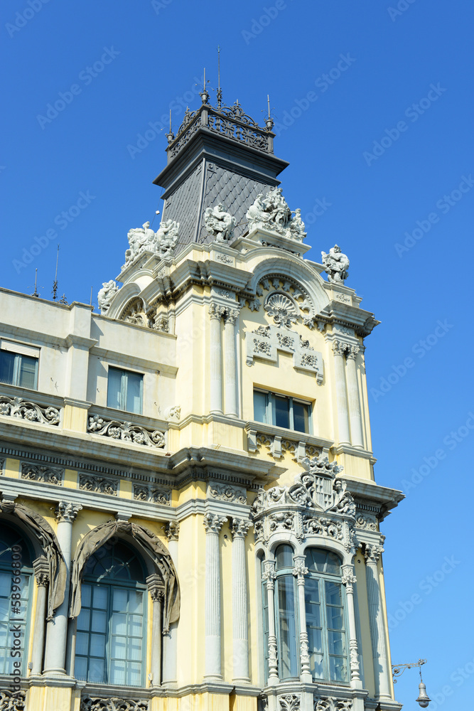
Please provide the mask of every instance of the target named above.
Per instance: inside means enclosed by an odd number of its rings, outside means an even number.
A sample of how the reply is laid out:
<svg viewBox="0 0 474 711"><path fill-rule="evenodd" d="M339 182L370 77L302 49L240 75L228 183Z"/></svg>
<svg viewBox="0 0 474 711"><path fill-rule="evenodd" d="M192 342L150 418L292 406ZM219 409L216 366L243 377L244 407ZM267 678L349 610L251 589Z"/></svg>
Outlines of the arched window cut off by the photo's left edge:
<svg viewBox="0 0 474 711"><path fill-rule="evenodd" d="M21 533L3 522L0 529L0 674L14 662L26 670L33 567L30 547ZM19 633L19 636L18 636ZM14 636L15 634L15 636ZM15 656L11 655L11 652Z"/></svg>

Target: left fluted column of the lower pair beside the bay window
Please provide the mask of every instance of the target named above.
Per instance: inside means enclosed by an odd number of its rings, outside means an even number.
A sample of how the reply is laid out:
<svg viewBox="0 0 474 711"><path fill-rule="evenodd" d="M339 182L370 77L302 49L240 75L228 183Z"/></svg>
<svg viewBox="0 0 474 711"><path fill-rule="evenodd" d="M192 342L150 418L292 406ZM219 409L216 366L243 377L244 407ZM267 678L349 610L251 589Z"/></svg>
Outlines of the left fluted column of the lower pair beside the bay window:
<svg viewBox="0 0 474 711"><path fill-rule="evenodd" d="M219 533L227 518L204 516L205 550L205 678L220 681L220 560Z"/></svg>

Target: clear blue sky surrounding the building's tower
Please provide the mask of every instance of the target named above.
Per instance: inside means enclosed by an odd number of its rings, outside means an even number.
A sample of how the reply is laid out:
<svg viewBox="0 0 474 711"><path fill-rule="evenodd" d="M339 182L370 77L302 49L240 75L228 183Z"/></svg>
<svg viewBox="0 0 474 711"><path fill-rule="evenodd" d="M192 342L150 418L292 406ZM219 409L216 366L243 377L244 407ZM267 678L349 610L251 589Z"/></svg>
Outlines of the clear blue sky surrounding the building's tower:
<svg viewBox="0 0 474 711"><path fill-rule="evenodd" d="M384 523L393 661L428 658L430 708L467 707L473 4L6 0L1 13L9 289L31 293L37 268L50 298L60 242L60 294L88 302L93 287L97 301L126 232L161 208L163 117L176 130L198 106L204 67L216 87L217 44L226 102L263 123L270 95L308 257L337 242L348 286L382 321L366 341L375 471L407 493ZM406 708L418 681L397 684Z"/></svg>

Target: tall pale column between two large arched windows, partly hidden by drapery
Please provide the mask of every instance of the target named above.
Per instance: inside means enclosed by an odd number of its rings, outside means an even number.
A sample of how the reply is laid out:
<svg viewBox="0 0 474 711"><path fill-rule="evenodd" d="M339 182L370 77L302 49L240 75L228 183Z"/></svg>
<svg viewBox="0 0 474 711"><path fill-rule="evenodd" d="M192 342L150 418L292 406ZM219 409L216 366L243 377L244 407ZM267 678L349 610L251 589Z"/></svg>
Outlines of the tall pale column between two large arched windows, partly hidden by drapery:
<svg viewBox="0 0 474 711"><path fill-rule="evenodd" d="M56 506L58 519L58 537L60 549L66 563L66 585L64 600L56 610L55 616L48 621L46 631L45 674L65 674L66 638L68 636L68 607L71 567L72 523L82 506L67 501L60 501Z"/></svg>

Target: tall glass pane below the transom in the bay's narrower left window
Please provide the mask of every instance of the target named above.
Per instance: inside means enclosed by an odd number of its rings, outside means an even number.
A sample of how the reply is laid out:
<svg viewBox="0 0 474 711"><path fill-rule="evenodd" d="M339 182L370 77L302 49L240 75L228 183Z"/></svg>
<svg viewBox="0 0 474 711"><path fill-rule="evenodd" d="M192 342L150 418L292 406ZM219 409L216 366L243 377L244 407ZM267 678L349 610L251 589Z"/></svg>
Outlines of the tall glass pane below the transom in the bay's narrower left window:
<svg viewBox="0 0 474 711"><path fill-rule="evenodd" d="M280 678L287 679L298 675L293 576L280 577L277 579L276 587L279 611Z"/></svg>

